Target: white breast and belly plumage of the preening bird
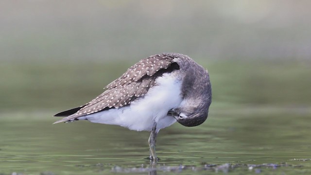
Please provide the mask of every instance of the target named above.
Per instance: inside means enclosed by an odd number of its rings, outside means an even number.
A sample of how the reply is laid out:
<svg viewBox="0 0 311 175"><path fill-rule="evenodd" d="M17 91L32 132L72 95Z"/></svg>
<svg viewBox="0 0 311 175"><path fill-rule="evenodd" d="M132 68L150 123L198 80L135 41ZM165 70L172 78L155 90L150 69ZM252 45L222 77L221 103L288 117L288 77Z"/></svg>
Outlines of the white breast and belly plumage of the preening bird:
<svg viewBox="0 0 311 175"><path fill-rule="evenodd" d="M176 122L167 113L182 102L181 80L172 73L164 73L156 79L157 86L131 105L90 114L79 119L93 123L116 124L136 131L151 131L157 123L157 132Z"/></svg>

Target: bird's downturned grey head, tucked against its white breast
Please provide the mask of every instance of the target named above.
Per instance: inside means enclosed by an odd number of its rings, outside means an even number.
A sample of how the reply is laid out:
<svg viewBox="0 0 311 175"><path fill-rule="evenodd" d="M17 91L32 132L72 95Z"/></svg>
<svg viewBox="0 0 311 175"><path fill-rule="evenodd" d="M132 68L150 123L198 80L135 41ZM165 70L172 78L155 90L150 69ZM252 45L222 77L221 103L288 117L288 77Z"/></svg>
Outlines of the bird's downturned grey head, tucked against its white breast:
<svg viewBox="0 0 311 175"><path fill-rule="evenodd" d="M204 123L207 119L210 102L199 105L182 104L171 109L168 115L173 116L176 121L184 126L197 126Z"/></svg>

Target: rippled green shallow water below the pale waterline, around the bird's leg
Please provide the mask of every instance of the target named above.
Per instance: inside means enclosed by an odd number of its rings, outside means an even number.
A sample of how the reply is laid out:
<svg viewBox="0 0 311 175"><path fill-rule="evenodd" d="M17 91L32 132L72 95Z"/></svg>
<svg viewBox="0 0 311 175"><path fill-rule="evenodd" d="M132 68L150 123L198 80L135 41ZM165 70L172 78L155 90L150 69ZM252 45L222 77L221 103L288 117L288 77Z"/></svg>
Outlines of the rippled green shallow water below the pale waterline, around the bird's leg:
<svg viewBox="0 0 311 175"><path fill-rule="evenodd" d="M1 114L0 174L311 174L306 107L215 107L200 126L161 130L161 160L151 168L144 159L148 132L87 121L52 124L59 119L52 114ZM287 164L256 167L266 163ZM218 167L204 168L211 164Z"/></svg>

